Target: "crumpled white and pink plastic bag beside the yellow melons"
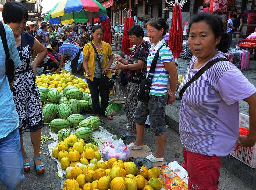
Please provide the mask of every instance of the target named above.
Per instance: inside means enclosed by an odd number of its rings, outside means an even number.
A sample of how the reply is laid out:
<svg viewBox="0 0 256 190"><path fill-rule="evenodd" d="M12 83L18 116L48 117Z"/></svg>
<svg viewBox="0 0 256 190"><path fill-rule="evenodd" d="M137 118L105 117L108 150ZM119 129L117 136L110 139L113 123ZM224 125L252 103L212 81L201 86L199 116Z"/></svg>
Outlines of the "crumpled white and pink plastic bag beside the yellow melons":
<svg viewBox="0 0 256 190"><path fill-rule="evenodd" d="M111 137L104 144L102 149L102 154L104 155L106 160L109 160L111 158L116 158L118 160L125 161L130 154L130 150L123 143L123 140L121 138L119 140L114 140Z"/></svg>

